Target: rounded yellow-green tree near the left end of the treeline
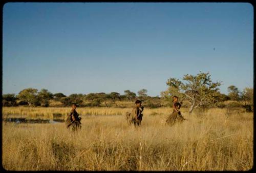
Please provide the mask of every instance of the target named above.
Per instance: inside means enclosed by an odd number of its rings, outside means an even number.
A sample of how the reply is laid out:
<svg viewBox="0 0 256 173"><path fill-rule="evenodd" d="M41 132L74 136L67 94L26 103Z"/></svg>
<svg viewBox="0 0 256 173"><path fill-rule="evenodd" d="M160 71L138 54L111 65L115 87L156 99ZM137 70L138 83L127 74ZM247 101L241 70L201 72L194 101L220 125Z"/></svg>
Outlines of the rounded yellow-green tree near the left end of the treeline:
<svg viewBox="0 0 256 173"><path fill-rule="evenodd" d="M30 107L40 105L40 98L37 96L37 89L28 88L19 92L17 96L21 101L25 101Z"/></svg>

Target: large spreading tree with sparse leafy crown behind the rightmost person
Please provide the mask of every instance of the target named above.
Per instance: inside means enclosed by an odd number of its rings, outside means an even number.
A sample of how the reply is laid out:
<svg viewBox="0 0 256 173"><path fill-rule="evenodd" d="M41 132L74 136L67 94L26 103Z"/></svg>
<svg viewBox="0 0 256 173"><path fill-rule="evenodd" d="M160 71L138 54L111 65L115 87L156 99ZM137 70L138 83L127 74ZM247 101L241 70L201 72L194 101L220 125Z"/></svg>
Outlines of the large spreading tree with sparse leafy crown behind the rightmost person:
<svg viewBox="0 0 256 173"><path fill-rule="evenodd" d="M173 96L178 96L180 102L189 106L189 113L196 107L217 103L220 93L218 92L220 82L212 82L209 72L200 72L196 76L186 74L180 81L176 78L169 78L166 82L168 89L162 92L162 96L168 101Z"/></svg>

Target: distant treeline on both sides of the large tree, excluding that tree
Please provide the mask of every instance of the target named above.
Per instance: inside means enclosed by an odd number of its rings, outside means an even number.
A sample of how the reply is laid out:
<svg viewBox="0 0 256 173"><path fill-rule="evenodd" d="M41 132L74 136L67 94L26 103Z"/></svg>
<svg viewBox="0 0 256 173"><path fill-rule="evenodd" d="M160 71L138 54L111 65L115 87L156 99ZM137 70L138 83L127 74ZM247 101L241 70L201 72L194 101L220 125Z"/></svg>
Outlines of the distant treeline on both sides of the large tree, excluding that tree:
<svg viewBox="0 0 256 173"><path fill-rule="evenodd" d="M94 106L115 106L116 101L134 102L136 99L143 100L144 105L156 108L166 106L164 97L151 97L148 96L147 90L140 90L137 94L130 90L125 90L124 94L121 95L117 92L111 93L90 93L90 94L71 94L69 96L63 93L52 94L46 89L42 89L38 92L37 89L24 89L15 94L4 94L3 95L3 106L42 106L49 107L50 101L58 101L61 103L59 106L70 106L72 103L76 103L80 107L94 107ZM220 98L217 103L218 107L224 107L224 101L233 100L237 103L231 102L230 107L242 106L247 104L253 105L253 89L245 88L243 92L239 91L235 86L228 87L228 95L220 94Z"/></svg>

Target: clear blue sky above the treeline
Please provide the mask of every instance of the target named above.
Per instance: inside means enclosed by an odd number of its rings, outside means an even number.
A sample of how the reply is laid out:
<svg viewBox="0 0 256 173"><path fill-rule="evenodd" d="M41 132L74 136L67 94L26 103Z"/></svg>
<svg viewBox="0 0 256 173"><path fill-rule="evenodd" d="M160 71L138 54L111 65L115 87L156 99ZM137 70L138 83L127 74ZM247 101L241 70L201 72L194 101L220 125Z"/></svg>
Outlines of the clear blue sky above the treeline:
<svg viewBox="0 0 256 173"><path fill-rule="evenodd" d="M170 77L209 72L253 87L248 3L8 3L3 94L136 92L160 96Z"/></svg>

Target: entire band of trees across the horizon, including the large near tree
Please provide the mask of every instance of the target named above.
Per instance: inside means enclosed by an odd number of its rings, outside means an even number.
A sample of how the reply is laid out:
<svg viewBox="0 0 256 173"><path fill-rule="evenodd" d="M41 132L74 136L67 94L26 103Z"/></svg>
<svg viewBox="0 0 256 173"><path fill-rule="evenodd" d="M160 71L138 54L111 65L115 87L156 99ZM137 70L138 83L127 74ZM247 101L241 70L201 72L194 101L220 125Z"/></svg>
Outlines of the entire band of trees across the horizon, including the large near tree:
<svg viewBox="0 0 256 173"><path fill-rule="evenodd" d="M223 103L227 100L236 102L230 103L230 107L244 106L248 111L253 110L253 89L245 88L240 91L236 86L231 85L227 88L228 94L219 92L221 82L213 82L211 75L200 72L197 75L186 74L182 80L177 78L169 78L166 81L168 89L161 92L161 96L151 97L147 95L147 90L142 89L136 93L125 90L121 95L117 92L111 93L90 93L90 94L71 94L69 96L63 93L52 94L47 89L38 92L37 89L28 88L15 94L3 95L3 106L44 106L48 107L59 102L57 106L69 106L76 103L80 107L86 106L119 106L127 107L133 104L136 99L143 101L143 105L151 108L167 106L172 104L172 97L178 96L179 102L183 107L189 107L191 113L197 107L225 107ZM116 102L119 102L119 105ZM120 102L130 102L122 104ZM55 105L56 106L56 105Z"/></svg>

